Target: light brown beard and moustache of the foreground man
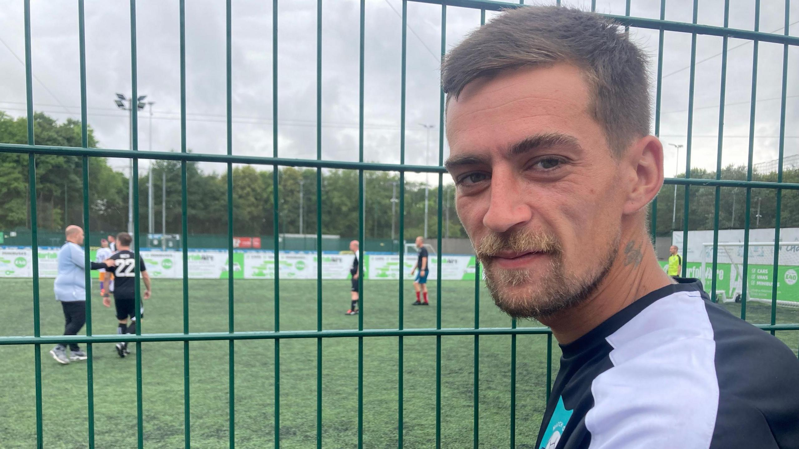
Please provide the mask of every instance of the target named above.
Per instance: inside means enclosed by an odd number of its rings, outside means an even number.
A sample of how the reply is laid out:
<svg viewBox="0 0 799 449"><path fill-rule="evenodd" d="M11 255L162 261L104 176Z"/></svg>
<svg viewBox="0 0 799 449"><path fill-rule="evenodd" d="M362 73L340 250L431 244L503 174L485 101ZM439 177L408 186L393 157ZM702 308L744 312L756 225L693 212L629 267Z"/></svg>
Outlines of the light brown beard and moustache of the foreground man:
<svg viewBox="0 0 799 449"><path fill-rule="evenodd" d="M562 244L546 232L491 233L480 240L475 252L483 264L486 284L497 307L513 318L540 320L581 304L596 291L616 260L620 239L621 232L615 236L602 264L584 273L566 269ZM545 253L549 264L538 273L530 268L498 268L493 257L501 251Z"/></svg>

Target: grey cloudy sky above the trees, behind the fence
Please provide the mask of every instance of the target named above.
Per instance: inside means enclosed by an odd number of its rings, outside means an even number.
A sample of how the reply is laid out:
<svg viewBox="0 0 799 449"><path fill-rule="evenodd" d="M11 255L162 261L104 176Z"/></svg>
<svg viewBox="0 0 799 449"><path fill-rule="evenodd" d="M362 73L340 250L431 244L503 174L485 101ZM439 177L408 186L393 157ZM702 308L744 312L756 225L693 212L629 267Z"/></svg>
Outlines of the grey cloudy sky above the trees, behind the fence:
<svg viewBox="0 0 799 449"><path fill-rule="evenodd" d="M35 109L58 120L80 117L77 1L31 2ZM187 145L197 153L225 153L225 2L186 2ZM702 0L698 22L721 26L724 0ZM730 0L729 26L754 27L754 0ZM323 158L358 158L358 0L326 0L323 6ZM589 8L589 0L569 2ZM658 18L659 0L633 0L631 14ZM624 14L624 0L598 0L600 12ZM400 161L400 38L402 2L366 1L364 157ZM799 35L799 0L790 34ZM440 6L408 2L407 163L438 163ZM784 0L761 0L760 30L783 33ZM669 0L666 19L690 22L691 0ZM101 147L128 147L128 118L113 104L129 95L129 2L86 0L86 67L89 125ZM493 13L487 14L487 19ZM233 153L272 155L272 2L233 0ZM278 153L316 157L316 0L282 1L278 7ZM447 48L479 26L479 11L447 8ZM631 31L652 56L658 34ZM180 66L178 2L137 2L138 92L152 106L153 150L179 150ZM0 0L0 109L25 114L22 2ZM745 164L749 140L753 43L729 40L723 164ZM754 161L777 157L782 46L761 43L757 74ZM692 165L714 169L718 145L721 38L699 36ZM685 145L690 34L666 33L663 56L661 137ZM799 74L799 48L789 50L789 79ZM653 87L654 90L654 87ZM785 154L799 153L799 85L788 86ZM140 114L140 149L149 149L149 109ZM427 131L430 153L426 157ZM445 157L447 149L445 145ZM666 176L674 175L674 147L666 149ZM123 169L125 161L112 161ZM685 149L679 158L682 173ZM146 163L143 164L146 167ZM219 170L206 164L204 169Z"/></svg>

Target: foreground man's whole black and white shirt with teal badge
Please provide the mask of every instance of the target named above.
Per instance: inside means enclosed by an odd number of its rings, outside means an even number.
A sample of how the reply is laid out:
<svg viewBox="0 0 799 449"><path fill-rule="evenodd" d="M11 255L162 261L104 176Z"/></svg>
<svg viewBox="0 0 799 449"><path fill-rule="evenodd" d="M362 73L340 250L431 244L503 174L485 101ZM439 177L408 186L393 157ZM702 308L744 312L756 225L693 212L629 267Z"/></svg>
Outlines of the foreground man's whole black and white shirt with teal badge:
<svg viewBox="0 0 799 449"><path fill-rule="evenodd" d="M679 282L561 345L537 449L799 448L797 356Z"/></svg>

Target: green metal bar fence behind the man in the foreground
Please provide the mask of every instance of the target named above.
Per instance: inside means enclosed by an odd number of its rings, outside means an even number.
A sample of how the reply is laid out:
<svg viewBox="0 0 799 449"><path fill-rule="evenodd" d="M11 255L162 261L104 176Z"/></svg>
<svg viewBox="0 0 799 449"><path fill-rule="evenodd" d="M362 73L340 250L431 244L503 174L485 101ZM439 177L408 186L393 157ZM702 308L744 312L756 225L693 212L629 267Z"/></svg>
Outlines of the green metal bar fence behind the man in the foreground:
<svg viewBox="0 0 799 449"><path fill-rule="evenodd" d="M31 244L33 245L33 300L34 300L34 335L33 336L0 336L0 345L10 344L30 344L34 346L34 387L36 390L36 437L38 447L44 447L42 441L42 372L41 372L41 346L42 344L58 344L62 341L69 341L74 343L86 343L88 348L88 370L86 378L87 387L87 401L88 401L88 426L89 426L89 447L94 447L94 409L93 409L93 354L92 344L95 343L113 343L125 341L133 341L136 343L136 378L137 378L137 447L143 446L142 434L142 391L141 387L141 344L144 342L156 341L182 341L184 343L184 398L185 398L185 447L191 446L191 435L189 432L190 415L189 415L189 349L190 343L193 341L201 340L227 340L229 342L229 447L235 447L236 443L236 426L235 426L235 342L236 340L274 340L275 342L275 447L280 447L280 340L284 339L316 339L316 446L322 447L322 345L325 338L357 338L358 339L358 447L363 447L363 414L364 414L364 396L363 396L363 383L364 383L364 338L373 336L392 336L397 337L398 340L398 357L399 357L399 371L398 371L398 393L399 393L399 410L397 416L398 427L398 444L403 447L403 337L404 336L435 336L436 337L436 364L435 364L435 447L441 447L441 339L443 336L474 336L475 339L475 365L474 365L474 447L479 445L479 337L487 335L510 335L511 336L511 379L510 379L510 395L511 395L511 447L515 447L515 372L516 372L516 336L519 335L535 335L540 334L547 337L547 398L550 393L551 385L551 358L552 358L552 334L549 328L519 328L516 326L515 320L511 322L510 327L507 328L481 328L479 323L479 276L475 276L475 324L473 328L442 328L441 327L441 304L442 300L446 298L441 297L441 282L436 285L436 293L438 300L436 301L437 319L435 328L404 328L403 326L403 276L399 280L399 303L398 303L398 325L396 329L364 329L364 312L369 312L369 309L364 310L364 296L363 296L363 282L359 280L360 292L360 316L358 318L357 330L325 330L322 327L321 316L321 301L322 301L322 266L317 265L317 280L316 280L316 300L317 300L317 316L316 316L316 330L307 331L280 331L280 279L279 272L275 270L274 281L274 331L273 332L236 332L233 326L233 164L256 164L256 165L272 165L273 168L273 181L274 181L274 226L278 228L278 207L279 195L277 189L277 169L280 166L300 166L316 168L316 213L321 218L321 177L322 169L356 169L360 178L359 197L359 239L364 241L364 170L387 170L400 172L400 217L404 215L404 177L407 172L417 173L436 173L438 174L439 190L438 201L442 202L442 189L443 175L443 109L444 109L444 95L440 93L439 96L439 161L435 166L420 166L420 165L407 165L405 163L405 84L406 84L406 44L407 44L407 2L423 2L433 3L441 6L441 54L443 55L446 49L446 25L447 25L447 6L458 6L480 10L481 23L485 22L486 10L500 10L507 7L518 7L518 4L507 2L490 2L487 0L403 0L402 2L402 74L401 74L401 106L400 106L400 164L379 164L364 162L364 11L365 0L360 0L360 111L359 111L359 160L358 162L345 162L345 161L326 161L322 159L322 144L321 144L321 62L322 62L322 35L321 35L321 18L322 18L322 0L317 0L316 14L317 14L317 28L316 28L316 159L315 160L300 160L279 157L277 137L277 105L279 100L277 90L277 54L278 54L278 41L277 41L277 14L273 15L272 23L272 114L273 114L273 154L272 157L258 157L258 156L240 156L233 155L233 131L232 131L232 89L231 89L231 32L233 23L231 20L231 0L227 0L227 16L226 16L226 44L227 44L227 154L214 155L214 154L201 154L201 153L187 153L186 151L186 93L185 93L185 0L180 2L180 71L181 71L181 153L165 153L165 152L147 152L139 153L137 141L138 117L137 109L133 108L133 151L117 150L117 149L93 149L88 148L87 137L87 119L86 119L86 70L85 70L85 29L84 29L84 1L78 0L78 26L79 26L79 46L80 46L80 82L81 82L81 148L72 147L57 147L57 146L43 146L34 144L34 102L33 102L33 83L32 74L33 66L31 64L31 50L30 50L30 0L25 0L25 61L26 61L26 102L27 102L27 145L11 145L0 144L0 151L8 153L26 153L28 154L28 169L29 169L29 184L30 184L30 210L31 210ZM610 18L614 18L626 27L639 27L644 29L659 30L659 45L658 45L658 65L657 65L657 91L656 91L656 108L655 108L655 128L654 133L659 135L660 132L660 105L662 95L662 68L663 68L663 34L665 31L674 31L691 34L691 66L690 66L690 90L689 90L689 110L688 110L688 129L687 129L687 157L686 157L686 178L669 178L666 179L667 185L684 185L685 186L685 213L684 213L684 229L688 226L688 213L689 213L689 191L692 186L711 186L715 188L715 208L714 208L714 244L718 243L718 217L719 217L719 196L722 187L743 187L746 189L746 209L750 209L751 205L751 191L752 189L776 189L777 191L777 234L775 236L775 251L774 251L774 270L773 270L773 292L772 292L772 307L771 307L771 322L770 324L757 324L760 328L770 331L772 334L775 331L791 330L799 331L799 324L776 324L776 311L777 311L777 263L778 263L778 242L779 242L779 224L780 224L780 211L781 211L781 193L784 189L799 190L799 184L783 183L782 181L782 157L785 144L785 101L786 89L788 85L788 50L789 46L799 46L799 38L789 36L789 0L785 1L785 32L784 34L767 34L759 31L760 21L760 1L755 0L755 15L754 15L754 29L749 30L736 30L730 29L729 25L729 0L725 0L724 4L724 26L706 26L697 23L698 14L698 0L693 2L693 21L691 23L683 22L669 22L665 20L666 14L666 0L660 2L660 18L633 18L630 17L630 2L626 0L626 15L617 16L606 14ZM521 0L520 3L523 3ZM560 0L557 1L560 4ZM272 7L276 11L279 7L277 0L272 0ZM591 10L595 10L596 2L592 0ZM475 24L476 25L476 24ZM697 35L705 34L711 36L720 36L723 38L723 54L721 61L721 111L718 121L718 161L715 180L700 180L691 179L691 136L693 126L693 113L694 113L694 81L695 71L694 65L696 62L696 43ZM721 179L721 151L723 148L722 136L724 129L724 103L725 103L725 79L726 79L726 50L729 38L749 39L753 41L753 81L752 81L752 97L751 97L751 118L749 123L749 160L748 160L748 175L747 181L727 181ZM752 181L752 160L753 160L753 130L754 130L754 114L755 114L755 101L757 99L757 46L758 42L773 42L783 45L783 66L782 66L782 96L781 96L781 121L780 121L780 139L779 139L779 177L778 182L755 182ZM136 38L136 1L130 0L130 47L131 47L131 80L132 90L131 97L137 97L137 38ZM95 336L92 332L92 310L90 289L86 290L86 336L42 336L39 326L39 284L38 284L38 230L37 230L37 213L36 213L36 158L38 155L55 154L55 155L74 155L82 157L82 176L83 176L83 210L84 210L84 223L89 223L89 177L88 177L88 161L89 157L122 157L130 158L133 160L133 216L138 217L138 161L139 159L154 159L154 160L173 160L181 161L181 244L183 253L183 332L173 334L148 334L142 333L141 321L136 329L136 336L116 336L116 335L101 335ZM189 232L187 229L186 221L186 162L188 161L210 161L210 162L223 162L227 165L228 173L228 253L229 253L229 279L228 279L228 293L229 293L229 324L228 332L203 332L195 333L189 332L189 276L188 276L188 248L189 248ZM656 211L656 201L652 205L652 213ZM438 252L441 251L441 213L442 209L439 208L438 215ZM651 232L654 236L657 229L655 228L655 217L652 217ZM317 239L319 242L317 246L317 255L320 256L321 248L321 223L317 221ZM744 272L747 272L748 264L748 251L746 248L749 244L749 214L745 218L745 241L744 241ZM134 232L139 234L138 221L133 221ZM86 244L89 242L90 230L85 229ZM403 221L400 220L400 236L403 235ZM189 238L187 238L189 237ZM274 236L274 247L279 247L278 234ZM684 236L684 242L687 241L687 232ZM134 251L139 251L139 241L136 240L134 244ZM403 256L404 248L400 245L400 260ZM363 268L364 260L364 245L360 246L359 260L361 269ZM686 244L683 244L683 259L687 256ZM275 264L278 263L277 254L275 257ZM89 264L89 252L86 252L86 264ZM138 265L138 259L136 260ZM716 266L717 255L714 251L713 258L714 275L711 291L715 291L716 284ZM686 272L686 264L683 264L683 275ZM479 266L478 266L479 272ZM139 281L138 267L136 270L136 281ZM438 277L441 278L441 265L438 266ZM360 279L363 279L361 277ZM89 272L86 272L86 284L89 284ZM743 284L744 292L741 296L744 304L741 307L741 317L745 318L746 304L745 304L745 288L746 282ZM136 293L136 314L140 311L139 304L141 301L140 292Z"/></svg>

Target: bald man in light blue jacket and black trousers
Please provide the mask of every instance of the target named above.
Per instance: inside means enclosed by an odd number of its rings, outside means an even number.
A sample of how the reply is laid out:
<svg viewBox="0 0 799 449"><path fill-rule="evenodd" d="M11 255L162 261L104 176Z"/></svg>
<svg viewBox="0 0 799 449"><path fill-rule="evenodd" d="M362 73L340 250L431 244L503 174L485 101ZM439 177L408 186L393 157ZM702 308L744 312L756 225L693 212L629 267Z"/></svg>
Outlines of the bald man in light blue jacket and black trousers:
<svg viewBox="0 0 799 449"><path fill-rule="evenodd" d="M74 224L66 228L66 243L58 250L58 276L53 284L55 299L64 309L65 336L78 335L86 322L86 279L84 234L80 226ZM97 270L113 266L113 260L89 262L89 268ZM86 360L85 352L78 344L70 344L70 357L66 356L66 343L58 344L50 350L50 355L59 364L69 364L70 360Z"/></svg>

